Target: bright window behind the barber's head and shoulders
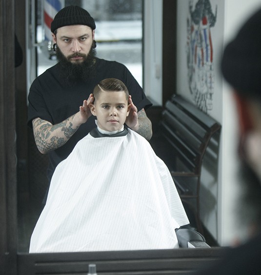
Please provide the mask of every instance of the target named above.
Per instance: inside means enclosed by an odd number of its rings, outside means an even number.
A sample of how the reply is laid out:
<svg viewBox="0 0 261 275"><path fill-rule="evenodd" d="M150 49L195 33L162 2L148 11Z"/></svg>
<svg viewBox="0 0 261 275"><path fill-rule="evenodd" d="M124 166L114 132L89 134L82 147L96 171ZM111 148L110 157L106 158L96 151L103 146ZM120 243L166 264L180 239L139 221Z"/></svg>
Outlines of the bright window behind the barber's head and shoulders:
<svg viewBox="0 0 261 275"><path fill-rule="evenodd" d="M142 0L38 0L37 75L57 60L45 15L54 18L64 6L79 5L96 23L97 57L123 63L143 86L142 80Z"/></svg>

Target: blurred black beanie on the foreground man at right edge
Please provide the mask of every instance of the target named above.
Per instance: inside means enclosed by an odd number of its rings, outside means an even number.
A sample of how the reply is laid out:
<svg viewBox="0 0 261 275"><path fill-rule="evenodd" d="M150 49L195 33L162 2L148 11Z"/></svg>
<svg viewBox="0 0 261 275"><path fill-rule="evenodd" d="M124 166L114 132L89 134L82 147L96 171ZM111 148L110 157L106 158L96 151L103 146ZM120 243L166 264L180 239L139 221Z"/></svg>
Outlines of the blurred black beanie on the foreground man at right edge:
<svg viewBox="0 0 261 275"><path fill-rule="evenodd" d="M225 47L221 71L238 93L261 98L261 10L243 24Z"/></svg>

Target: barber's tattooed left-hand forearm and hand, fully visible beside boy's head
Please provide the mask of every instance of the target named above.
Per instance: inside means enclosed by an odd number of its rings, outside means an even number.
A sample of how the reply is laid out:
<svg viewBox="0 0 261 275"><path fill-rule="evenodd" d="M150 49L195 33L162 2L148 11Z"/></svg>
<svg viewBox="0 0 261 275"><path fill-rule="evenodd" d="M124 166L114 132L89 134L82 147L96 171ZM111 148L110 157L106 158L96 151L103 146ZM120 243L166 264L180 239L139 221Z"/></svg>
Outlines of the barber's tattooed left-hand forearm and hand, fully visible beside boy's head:
<svg viewBox="0 0 261 275"><path fill-rule="evenodd" d="M35 142L40 153L46 154L64 145L91 116L89 104L92 102L91 94L88 100L83 101L78 113L55 125L41 118L33 119Z"/></svg>

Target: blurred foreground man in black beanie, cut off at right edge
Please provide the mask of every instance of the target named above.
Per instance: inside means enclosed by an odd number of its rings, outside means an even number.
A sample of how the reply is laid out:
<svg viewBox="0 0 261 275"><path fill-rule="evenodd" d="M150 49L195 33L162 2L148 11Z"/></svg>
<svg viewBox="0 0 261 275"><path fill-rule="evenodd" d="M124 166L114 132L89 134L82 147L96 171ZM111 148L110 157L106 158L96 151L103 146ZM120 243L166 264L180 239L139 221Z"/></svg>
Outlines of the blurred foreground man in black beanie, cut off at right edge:
<svg viewBox="0 0 261 275"><path fill-rule="evenodd" d="M238 206L248 239L229 249L216 266L200 274L261 274L261 10L245 22L225 48L221 69L234 91L239 122L239 181L243 197Z"/></svg>

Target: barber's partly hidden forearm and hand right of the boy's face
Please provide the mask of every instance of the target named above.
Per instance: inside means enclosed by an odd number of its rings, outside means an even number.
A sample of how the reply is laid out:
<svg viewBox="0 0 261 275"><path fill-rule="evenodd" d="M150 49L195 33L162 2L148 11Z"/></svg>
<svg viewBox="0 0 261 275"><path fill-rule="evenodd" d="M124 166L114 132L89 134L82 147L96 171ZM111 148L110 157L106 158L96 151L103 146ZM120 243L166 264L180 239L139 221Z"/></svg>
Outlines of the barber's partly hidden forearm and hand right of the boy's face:
<svg viewBox="0 0 261 275"><path fill-rule="evenodd" d="M129 104L131 105L131 111L126 119L126 124L133 131L150 140L152 137L152 125L145 110L142 109L137 112L137 107L133 104L131 96L129 96Z"/></svg>

